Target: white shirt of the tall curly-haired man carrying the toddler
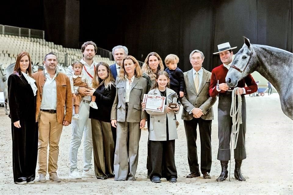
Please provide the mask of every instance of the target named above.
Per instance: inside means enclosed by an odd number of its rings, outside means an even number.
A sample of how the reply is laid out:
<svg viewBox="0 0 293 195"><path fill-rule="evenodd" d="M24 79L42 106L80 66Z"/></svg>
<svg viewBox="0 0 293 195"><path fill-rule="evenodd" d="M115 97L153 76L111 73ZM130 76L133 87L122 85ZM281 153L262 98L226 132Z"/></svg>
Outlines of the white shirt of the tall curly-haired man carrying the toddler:
<svg viewBox="0 0 293 195"><path fill-rule="evenodd" d="M92 60L92 64L89 66L83 59L81 59L80 62L85 65L85 67L82 69L82 73L86 76L86 78L89 80L89 82L92 83L92 77L94 77L95 69L96 69L96 66L98 63L95 62L94 60ZM89 74L85 71L85 69L92 77L89 76ZM67 71L66 71L66 75L70 78L73 74L74 74L74 71L72 69L72 66L68 66ZM74 89L74 93L77 94L78 87L73 87L73 89ZM91 97L86 96L83 99L90 101Z"/></svg>

